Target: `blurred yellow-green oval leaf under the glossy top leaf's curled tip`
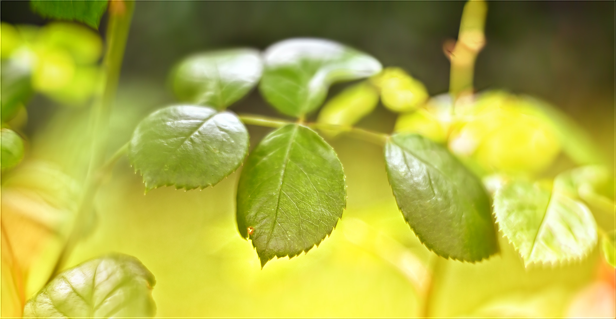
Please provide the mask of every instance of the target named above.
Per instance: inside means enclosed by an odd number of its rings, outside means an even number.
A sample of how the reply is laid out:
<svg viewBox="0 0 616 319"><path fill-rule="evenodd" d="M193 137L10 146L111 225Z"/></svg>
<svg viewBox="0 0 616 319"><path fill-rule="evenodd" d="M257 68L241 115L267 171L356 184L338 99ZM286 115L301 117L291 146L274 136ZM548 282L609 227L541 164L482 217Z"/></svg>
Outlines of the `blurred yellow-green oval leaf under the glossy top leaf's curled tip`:
<svg viewBox="0 0 616 319"><path fill-rule="evenodd" d="M365 82L355 84L329 100L318 113L317 122L351 126L370 114L378 102L379 95L373 86Z"/></svg>

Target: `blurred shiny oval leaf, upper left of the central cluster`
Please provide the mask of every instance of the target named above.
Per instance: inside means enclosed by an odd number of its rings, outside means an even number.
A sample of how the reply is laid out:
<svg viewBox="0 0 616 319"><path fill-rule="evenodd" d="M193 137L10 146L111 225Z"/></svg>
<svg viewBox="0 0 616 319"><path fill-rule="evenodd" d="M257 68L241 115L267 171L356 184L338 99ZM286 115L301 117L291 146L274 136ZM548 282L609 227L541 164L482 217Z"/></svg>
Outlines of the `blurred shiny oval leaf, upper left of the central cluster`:
<svg viewBox="0 0 616 319"><path fill-rule="evenodd" d="M261 79L261 54L253 49L205 52L188 57L172 75L182 102L224 109L248 94Z"/></svg>

